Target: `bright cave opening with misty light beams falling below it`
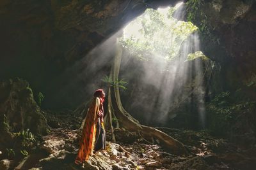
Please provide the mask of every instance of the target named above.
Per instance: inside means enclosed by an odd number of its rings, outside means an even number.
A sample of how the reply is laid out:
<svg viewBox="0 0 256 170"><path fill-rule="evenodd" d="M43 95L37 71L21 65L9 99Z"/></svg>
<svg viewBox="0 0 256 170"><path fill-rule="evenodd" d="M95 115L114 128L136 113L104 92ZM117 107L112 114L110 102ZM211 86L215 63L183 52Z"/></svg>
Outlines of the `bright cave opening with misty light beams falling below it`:
<svg viewBox="0 0 256 170"><path fill-rule="evenodd" d="M172 127L186 103L192 128L205 127L204 71L210 60L200 51L200 32L182 21L184 3L147 9L124 28L121 97L131 115L147 125ZM154 120L154 121L152 121Z"/></svg>

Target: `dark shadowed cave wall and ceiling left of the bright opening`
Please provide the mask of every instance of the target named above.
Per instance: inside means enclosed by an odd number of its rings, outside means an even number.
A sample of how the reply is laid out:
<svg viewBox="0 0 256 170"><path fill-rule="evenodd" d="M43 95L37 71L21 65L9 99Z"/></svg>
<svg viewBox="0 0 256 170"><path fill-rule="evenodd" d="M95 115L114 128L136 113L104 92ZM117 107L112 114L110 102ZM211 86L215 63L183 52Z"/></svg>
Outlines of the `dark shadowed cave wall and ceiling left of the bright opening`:
<svg viewBox="0 0 256 170"><path fill-rule="evenodd" d="M81 92L66 89L60 100L63 82L76 76L77 61L91 60L88 53L108 39L146 8L157 8L176 1L1 1L0 2L0 79L21 77L35 92L45 96L43 106L74 107L82 102L67 99ZM89 56L89 57L88 57ZM87 58L88 59L84 59ZM100 59L100 58L99 58ZM108 74L109 69L103 69ZM71 73L68 73L70 71ZM81 70L80 70L81 71ZM76 72L76 73L75 73ZM61 77L61 79L60 79ZM84 76L85 82L94 76ZM77 82L76 82L77 83ZM95 88L99 87L95 83ZM74 92L75 91L75 92ZM75 94L74 94L75 93ZM86 93L84 95L87 95ZM59 99L58 99L59 97ZM45 103L46 102L46 103Z"/></svg>

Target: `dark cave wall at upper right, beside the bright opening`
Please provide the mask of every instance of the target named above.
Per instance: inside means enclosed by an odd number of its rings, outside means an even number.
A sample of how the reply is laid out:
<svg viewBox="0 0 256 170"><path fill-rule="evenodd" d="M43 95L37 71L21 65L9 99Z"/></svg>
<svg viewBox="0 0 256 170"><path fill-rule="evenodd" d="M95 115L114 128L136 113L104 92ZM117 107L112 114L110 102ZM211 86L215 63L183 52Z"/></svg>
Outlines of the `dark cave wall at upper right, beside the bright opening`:
<svg viewBox="0 0 256 170"><path fill-rule="evenodd" d="M255 1L201 2L200 9L192 10L195 18L191 21L203 30L202 51L221 64L222 86L255 88Z"/></svg>

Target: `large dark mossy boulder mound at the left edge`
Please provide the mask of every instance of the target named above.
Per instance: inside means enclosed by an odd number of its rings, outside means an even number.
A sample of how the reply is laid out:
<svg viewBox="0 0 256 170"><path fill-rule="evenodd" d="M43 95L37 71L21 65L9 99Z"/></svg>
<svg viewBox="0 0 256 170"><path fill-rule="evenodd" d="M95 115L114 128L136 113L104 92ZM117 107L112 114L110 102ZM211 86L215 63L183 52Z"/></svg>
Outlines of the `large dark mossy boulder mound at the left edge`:
<svg viewBox="0 0 256 170"><path fill-rule="evenodd" d="M20 78L0 81L0 124L5 121L5 132L19 132L29 129L33 134L46 134L47 122L33 98L29 83ZM5 117L5 118L4 118ZM3 133L3 132L2 132ZM5 141L1 141L1 140ZM0 143L10 142L0 138ZM8 145L8 144L7 144Z"/></svg>

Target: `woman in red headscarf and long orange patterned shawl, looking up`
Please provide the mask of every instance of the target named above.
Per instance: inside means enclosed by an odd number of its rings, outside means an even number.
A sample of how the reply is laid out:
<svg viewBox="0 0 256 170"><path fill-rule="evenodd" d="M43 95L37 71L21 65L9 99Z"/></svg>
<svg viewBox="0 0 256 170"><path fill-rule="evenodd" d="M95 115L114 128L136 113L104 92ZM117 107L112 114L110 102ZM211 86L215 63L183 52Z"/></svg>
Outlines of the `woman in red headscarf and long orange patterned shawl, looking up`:
<svg viewBox="0 0 256 170"><path fill-rule="evenodd" d="M103 125L103 102L105 93L103 89L98 89L93 94L92 103L85 118L82 138L79 143L79 150L75 160L76 164L81 164L88 160L93 153L106 148L106 132Z"/></svg>

